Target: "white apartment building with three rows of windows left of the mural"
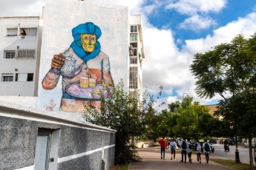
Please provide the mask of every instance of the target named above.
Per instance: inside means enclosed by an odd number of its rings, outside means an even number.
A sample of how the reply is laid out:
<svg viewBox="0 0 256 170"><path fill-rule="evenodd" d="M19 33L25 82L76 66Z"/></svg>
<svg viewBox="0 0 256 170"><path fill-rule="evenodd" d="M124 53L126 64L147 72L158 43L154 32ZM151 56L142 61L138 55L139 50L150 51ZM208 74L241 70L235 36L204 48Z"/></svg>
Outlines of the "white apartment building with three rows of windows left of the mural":
<svg viewBox="0 0 256 170"><path fill-rule="evenodd" d="M39 16L0 18L0 95L37 95L39 21Z"/></svg>

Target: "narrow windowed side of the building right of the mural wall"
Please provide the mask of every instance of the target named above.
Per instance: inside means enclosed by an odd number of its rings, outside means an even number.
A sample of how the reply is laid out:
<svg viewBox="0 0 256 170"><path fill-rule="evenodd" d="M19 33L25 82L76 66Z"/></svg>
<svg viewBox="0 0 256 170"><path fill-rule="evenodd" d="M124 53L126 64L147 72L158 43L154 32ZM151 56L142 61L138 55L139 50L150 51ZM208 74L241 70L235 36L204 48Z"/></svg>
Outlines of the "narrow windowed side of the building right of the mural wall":
<svg viewBox="0 0 256 170"><path fill-rule="evenodd" d="M142 21L140 15L129 18L130 43L129 43L129 89L130 92L140 90L142 93L142 60L145 58Z"/></svg>

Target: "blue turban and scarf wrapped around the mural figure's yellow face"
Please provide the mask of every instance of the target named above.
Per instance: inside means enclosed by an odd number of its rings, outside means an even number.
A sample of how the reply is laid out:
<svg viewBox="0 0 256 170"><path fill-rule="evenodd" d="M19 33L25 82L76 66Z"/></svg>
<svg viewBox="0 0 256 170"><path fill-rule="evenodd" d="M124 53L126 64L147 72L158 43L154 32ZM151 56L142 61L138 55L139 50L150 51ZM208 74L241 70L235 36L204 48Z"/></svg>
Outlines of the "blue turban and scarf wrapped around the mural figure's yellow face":
<svg viewBox="0 0 256 170"><path fill-rule="evenodd" d="M95 34L96 35L96 44L95 49L89 55L86 54L85 50L82 49L82 42L80 39L81 34ZM86 22L85 24L79 24L78 26L72 29L73 42L70 44L70 47L76 52L76 55L79 58L82 58L85 62L95 58L96 55L100 52L100 43L98 41L99 37L102 35L102 31L98 26L92 22Z"/></svg>

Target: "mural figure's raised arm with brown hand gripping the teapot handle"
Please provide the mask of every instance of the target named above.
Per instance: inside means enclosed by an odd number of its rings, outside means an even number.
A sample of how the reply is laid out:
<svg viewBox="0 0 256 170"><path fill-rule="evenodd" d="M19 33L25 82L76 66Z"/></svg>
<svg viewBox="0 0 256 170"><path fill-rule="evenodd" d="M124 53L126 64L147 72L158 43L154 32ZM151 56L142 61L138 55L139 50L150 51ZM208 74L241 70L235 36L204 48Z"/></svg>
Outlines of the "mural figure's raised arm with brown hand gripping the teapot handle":
<svg viewBox="0 0 256 170"><path fill-rule="evenodd" d="M53 55L53 59L51 61L51 69L45 75L45 78L42 81L42 87L44 89L53 89L57 86L60 76L60 69L64 64L64 57L60 53L59 55Z"/></svg>

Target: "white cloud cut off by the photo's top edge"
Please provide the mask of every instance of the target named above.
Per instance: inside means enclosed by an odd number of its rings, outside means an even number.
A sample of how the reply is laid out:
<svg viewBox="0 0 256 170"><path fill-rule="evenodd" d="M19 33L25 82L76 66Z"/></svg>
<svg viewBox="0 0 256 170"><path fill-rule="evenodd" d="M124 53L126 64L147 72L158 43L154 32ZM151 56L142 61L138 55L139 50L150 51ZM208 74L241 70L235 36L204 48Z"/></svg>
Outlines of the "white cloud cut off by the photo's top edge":
<svg viewBox="0 0 256 170"><path fill-rule="evenodd" d="M180 0L175 3L171 1L166 6L166 9L177 10L178 13L186 14L188 16L196 13L218 13L225 7L227 0Z"/></svg>

